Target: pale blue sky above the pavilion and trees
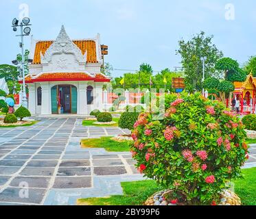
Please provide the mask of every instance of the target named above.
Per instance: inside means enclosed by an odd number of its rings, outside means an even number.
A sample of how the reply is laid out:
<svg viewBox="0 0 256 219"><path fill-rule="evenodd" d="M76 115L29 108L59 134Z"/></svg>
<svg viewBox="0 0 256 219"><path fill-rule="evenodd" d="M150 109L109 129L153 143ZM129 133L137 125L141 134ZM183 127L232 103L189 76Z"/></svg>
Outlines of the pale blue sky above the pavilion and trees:
<svg viewBox="0 0 256 219"><path fill-rule="evenodd" d="M71 38L100 33L109 46L106 62L114 68L137 69L142 62L154 70L181 66L178 40L201 30L213 34L218 49L240 64L256 55L254 0L1 0L0 64L10 64L19 53L19 38L10 26L22 3L29 6L34 38L55 39L62 24ZM225 19L227 3L235 7L232 21ZM30 47L28 37L25 46ZM123 73L116 70L113 75Z"/></svg>

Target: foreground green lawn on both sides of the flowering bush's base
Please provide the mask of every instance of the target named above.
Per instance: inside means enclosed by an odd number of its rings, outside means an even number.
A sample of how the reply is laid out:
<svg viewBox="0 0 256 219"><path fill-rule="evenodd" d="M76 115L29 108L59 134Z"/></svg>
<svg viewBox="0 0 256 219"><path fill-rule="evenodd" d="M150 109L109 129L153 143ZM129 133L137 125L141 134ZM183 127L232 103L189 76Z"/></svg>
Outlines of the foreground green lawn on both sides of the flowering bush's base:
<svg viewBox="0 0 256 219"><path fill-rule="evenodd" d="M242 170L244 179L235 181L235 192L244 205L256 205L256 168ZM104 198L81 198L78 205L143 205L149 196L163 190L155 181L134 181L121 183L124 195Z"/></svg>

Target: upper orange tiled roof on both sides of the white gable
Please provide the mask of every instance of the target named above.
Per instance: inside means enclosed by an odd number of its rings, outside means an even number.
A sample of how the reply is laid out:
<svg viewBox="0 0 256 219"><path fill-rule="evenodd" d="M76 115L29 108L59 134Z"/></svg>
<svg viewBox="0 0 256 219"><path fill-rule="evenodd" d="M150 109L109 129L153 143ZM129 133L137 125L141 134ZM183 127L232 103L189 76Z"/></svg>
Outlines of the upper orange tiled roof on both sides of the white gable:
<svg viewBox="0 0 256 219"><path fill-rule="evenodd" d="M41 64L40 53L45 55L45 52L53 42L54 41L38 41L36 43L33 64ZM87 51L87 63L97 63L96 43L94 40L73 40L73 42L81 49L82 55Z"/></svg>

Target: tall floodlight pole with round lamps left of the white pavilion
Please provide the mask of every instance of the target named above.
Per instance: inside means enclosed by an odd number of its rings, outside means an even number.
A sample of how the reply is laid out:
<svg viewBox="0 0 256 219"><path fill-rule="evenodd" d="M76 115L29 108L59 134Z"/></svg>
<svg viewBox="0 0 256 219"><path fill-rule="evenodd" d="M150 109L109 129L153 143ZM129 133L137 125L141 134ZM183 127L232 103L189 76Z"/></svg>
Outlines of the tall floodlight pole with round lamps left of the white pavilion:
<svg viewBox="0 0 256 219"><path fill-rule="evenodd" d="M23 96L22 96L22 105L23 107L28 107L27 105L27 94L26 94L26 88L25 88L25 57L24 57L24 36L29 36L31 28L28 27L30 25L30 18L23 18L21 23L19 24L19 21L14 18L12 21L12 27L13 31L17 31L17 27L21 27L21 35L16 35L21 37L21 42L19 43L19 46L21 47L21 70L22 70L22 77L23 77ZM27 62L27 61L26 61Z"/></svg>

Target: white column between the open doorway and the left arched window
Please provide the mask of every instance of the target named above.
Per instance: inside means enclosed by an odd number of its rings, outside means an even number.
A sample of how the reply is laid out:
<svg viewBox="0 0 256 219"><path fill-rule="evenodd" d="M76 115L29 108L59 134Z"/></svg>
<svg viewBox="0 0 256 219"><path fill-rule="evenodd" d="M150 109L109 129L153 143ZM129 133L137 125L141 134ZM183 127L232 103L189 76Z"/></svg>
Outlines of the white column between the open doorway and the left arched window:
<svg viewBox="0 0 256 219"><path fill-rule="evenodd" d="M42 88L42 106L41 106L41 114L42 115L50 115L51 114L51 92L49 88L49 82L41 83Z"/></svg>

